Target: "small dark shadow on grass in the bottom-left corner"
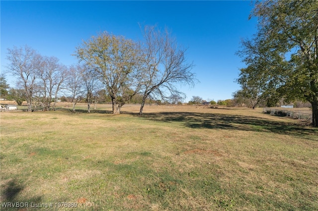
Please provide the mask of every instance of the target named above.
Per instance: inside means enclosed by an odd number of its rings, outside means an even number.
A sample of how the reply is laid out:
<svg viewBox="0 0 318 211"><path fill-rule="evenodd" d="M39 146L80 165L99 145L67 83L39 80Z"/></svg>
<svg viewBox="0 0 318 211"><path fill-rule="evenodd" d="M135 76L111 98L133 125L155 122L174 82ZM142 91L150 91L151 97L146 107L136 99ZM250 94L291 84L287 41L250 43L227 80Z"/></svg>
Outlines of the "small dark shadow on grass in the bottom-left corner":
<svg viewBox="0 0 318 211"><path fill-rule="evenodd" d="M42 201L42 197L34 197L34 198L26 198L21 199L18 197L19 193L23 191L24 186L20 184L17 180L12 179L4 184L1 185L1 205L0 210L17 210L19 207L17 207L16 203L19 205L24 203L27 203L30 205L31 203L40 203ZM11 203L11 204L9 204ZM14 205L12 204L14 203ZM20 204L21 203L21 204ZM14 207L13 207L14 206Z"/></svg>

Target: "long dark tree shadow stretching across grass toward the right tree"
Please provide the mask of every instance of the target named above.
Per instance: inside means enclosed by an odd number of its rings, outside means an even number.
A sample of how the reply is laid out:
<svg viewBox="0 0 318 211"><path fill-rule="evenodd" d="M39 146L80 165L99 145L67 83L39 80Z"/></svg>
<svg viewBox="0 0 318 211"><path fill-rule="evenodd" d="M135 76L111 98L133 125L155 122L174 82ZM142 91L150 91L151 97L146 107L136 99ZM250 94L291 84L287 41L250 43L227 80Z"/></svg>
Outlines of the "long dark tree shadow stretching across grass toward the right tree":
<svg viewBox="0 0 318 211"><path fill-rule="evenodd" d="M196 112L159 112L144 113L143 118L162 122L181 122L189 128L225 129L242 131L266 131L288 134L318 141L318 129L300 124L277 122L274 120L230 114L196 113ZM304 137L305 138L305 137Z"/></svg>

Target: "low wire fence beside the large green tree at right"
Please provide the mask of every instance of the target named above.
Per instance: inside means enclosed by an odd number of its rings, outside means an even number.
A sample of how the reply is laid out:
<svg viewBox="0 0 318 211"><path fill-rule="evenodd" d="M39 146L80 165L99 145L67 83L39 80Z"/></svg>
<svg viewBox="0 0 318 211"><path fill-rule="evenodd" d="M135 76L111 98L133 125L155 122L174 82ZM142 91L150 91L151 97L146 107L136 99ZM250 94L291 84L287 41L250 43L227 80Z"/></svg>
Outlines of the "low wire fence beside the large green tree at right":
<svg viewBox="0 0 318 211"><path fill-rule="evenodd" d="M284 110L278 108L269 108L263 107L263 112L268 114L275 114L279 116L290 116L297 119L303 119L312 122L313 121L313 114L312 113L305 113L301 110Z"/></svg>

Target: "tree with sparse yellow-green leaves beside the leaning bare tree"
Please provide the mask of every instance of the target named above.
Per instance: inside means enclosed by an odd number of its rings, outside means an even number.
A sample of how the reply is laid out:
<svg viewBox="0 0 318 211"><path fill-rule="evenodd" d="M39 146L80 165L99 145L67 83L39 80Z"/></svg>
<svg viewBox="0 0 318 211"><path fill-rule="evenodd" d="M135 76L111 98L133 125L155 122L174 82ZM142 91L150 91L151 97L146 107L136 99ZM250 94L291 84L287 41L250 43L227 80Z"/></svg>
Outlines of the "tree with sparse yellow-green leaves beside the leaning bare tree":
<svg viewBox="0 0 318 211"><path fill-rule="evenodd" d="M140 88L141 68L138 45L123 36L107 32L83 41L75 55L93 69L106 86L113 104L113 114L119 114Z"/></svg>

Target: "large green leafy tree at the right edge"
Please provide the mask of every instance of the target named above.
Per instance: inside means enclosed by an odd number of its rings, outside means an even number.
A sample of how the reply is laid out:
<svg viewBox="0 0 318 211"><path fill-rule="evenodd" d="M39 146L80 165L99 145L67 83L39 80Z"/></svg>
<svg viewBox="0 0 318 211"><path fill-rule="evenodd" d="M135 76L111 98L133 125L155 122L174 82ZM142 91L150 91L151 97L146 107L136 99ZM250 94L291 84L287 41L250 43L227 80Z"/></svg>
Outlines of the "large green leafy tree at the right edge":
<svg viewBox="0 0 318 211"><path fill-rule="evenodd" d="M257 34L239 51L247 78L286 101L310 102L318 126L318 1L257 1L251 17Z"/></svg>

